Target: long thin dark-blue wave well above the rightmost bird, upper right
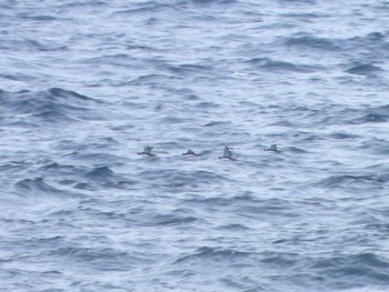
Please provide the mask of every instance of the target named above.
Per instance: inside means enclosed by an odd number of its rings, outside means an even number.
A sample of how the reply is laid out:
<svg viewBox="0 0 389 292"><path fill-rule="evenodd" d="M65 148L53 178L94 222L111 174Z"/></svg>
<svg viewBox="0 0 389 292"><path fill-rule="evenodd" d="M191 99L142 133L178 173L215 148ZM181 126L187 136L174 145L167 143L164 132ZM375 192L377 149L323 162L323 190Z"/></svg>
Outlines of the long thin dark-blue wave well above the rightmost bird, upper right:
<svg viewBox="0 0 389 292"><path fill-rule="evenodd" d="M248 63L260 68L262 70L269 70L272 72L293 72L293 73L313 73L322 70L318 66L308 64L295 64L285 61L273 61L270 58L253 58L247 61Z"/></svg>

